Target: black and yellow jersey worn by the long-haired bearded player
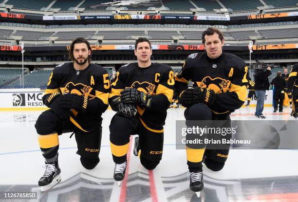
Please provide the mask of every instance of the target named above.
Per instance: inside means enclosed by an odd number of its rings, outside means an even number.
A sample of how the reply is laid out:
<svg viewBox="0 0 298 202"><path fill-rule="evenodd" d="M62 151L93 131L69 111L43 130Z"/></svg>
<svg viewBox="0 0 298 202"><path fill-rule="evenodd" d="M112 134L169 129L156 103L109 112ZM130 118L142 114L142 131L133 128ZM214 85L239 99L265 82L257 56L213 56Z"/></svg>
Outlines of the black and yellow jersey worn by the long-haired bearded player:
<svg viewBox="0 0 298 202"><path fill-rule="evenodd" d="M111 85L108 72L101 66L89 64L76 71L73 62L58 65L50 75L43 100L54 93L75 93L88 97L86 112L72 109L70 120L83 131L92 131L101 126L101 114L107 110Z"/></svg>

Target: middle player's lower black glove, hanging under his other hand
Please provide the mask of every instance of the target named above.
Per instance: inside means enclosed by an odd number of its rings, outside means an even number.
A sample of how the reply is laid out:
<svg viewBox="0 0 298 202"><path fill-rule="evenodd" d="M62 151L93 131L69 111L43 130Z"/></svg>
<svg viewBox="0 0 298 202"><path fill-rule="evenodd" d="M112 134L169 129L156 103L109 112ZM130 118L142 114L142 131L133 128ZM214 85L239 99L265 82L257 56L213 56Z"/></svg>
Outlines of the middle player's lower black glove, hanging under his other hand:
<svg viewBox="0 0 298 202"><path fill-rule="evenodd" d="M135 116L137 113L136 107L134 104L124 104L121 101L120 96L116 96L113 98L111 106L114 108L117 108L117 110L124 115L126 118L131 118L132 116ZM115 110L115 109L113 109Z"/></svg>

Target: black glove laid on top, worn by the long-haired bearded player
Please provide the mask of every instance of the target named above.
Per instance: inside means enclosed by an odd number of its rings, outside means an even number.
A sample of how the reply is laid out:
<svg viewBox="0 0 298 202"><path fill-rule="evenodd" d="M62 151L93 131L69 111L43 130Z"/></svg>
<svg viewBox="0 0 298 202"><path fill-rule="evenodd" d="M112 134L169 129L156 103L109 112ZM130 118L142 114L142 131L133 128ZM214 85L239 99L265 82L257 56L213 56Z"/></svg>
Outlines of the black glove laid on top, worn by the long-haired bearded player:
<svg viewBox="0 0 298 202"><path fill-rule="evenodd" d="M88 105L88 97L77 94L63 94L59 96L59 103L62 108L77 109L85 112Z"/></svg>

